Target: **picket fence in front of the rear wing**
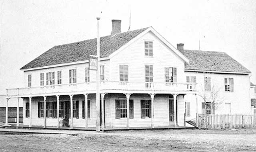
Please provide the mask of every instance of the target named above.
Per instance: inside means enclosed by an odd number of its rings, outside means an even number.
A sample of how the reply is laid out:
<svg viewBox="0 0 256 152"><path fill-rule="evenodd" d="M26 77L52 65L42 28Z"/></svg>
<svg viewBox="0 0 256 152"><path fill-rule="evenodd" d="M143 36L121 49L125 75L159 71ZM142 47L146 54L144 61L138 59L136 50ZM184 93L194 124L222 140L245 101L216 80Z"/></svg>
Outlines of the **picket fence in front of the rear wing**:
<svg viewBox="0 0 256 152"><path fill-rule="evenodd" d="M256 127L256 114L199 114L199 128Z"/></svg>

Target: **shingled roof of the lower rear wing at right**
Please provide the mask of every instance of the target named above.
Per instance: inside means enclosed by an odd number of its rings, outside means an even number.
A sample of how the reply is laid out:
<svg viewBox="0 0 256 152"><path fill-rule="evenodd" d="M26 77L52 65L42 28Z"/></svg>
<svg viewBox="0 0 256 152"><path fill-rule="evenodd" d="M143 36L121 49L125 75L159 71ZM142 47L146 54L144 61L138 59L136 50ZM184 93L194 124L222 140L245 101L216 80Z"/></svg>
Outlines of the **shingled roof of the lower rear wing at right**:
<svg viewBox="0 0 256 152"><path fill-rule="evenodd" d="M184 55L189 59L185 70L251 73L225 52L184 50Z"/></svg>

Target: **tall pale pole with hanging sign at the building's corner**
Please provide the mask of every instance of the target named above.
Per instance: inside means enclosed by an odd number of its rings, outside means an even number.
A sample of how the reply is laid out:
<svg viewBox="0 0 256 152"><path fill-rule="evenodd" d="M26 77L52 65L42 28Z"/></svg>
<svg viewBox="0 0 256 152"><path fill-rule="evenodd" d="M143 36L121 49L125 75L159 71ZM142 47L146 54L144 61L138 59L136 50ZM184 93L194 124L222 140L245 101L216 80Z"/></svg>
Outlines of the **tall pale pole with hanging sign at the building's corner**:
<svg viewBox="0 0 256 152"><path fill-rule="evenodd" d="M100 17L97 17L97 71L96 71L96 131L100 129Z"/></svg>

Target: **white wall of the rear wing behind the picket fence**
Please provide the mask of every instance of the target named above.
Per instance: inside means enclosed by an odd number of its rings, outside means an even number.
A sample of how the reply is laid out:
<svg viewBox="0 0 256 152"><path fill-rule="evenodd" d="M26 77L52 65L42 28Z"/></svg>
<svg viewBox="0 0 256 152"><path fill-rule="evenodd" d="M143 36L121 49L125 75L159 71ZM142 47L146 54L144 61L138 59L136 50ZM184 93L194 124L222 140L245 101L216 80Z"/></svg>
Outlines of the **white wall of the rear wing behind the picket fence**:
<svg viewBox="0 0 256 152"><path fill-rule="evenodd" d="M223 100L220 108L216 110L216 114L229 113L225 110L225 103L230 103L231 113L251 113L251 96L250 82L247 74L217 74L217 73L197 73L185 72L186 76L195 76L199 94L202 94L204 89L204 77L211 77L211 86L216 86L219 89L219 99ZM234 92L225 91L224 78L234 78ZM185 101L190 102L191 116L186 119L195 118L196 113L196 98L194 95L185 95ZM198 109L202 113L202 98L198 96Z"/></svg>

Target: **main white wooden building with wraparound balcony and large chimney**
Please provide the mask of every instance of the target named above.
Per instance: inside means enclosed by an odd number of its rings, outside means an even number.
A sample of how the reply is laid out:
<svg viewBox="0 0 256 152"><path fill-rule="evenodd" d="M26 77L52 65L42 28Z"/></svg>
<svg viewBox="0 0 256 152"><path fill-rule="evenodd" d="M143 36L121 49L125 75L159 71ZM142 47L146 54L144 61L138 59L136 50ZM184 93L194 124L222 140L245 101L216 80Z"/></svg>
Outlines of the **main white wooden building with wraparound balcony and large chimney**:
<svg viewBox="0 0 256 152"><path fill-rule="evenodd" d="M197 82L186 77L197 73L186 71L189 57L153 27L120 33L121 21L112 24L111 35L100 39L102 129L185 126L184 98L199 104ZM7 89L7 97L24 98L24 125L96 128L90 55L96 39L54 46L21 68L24 87ZM191 109L194 118L199 107Z"/></svg>

